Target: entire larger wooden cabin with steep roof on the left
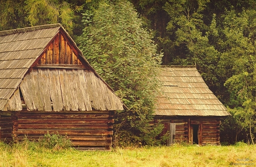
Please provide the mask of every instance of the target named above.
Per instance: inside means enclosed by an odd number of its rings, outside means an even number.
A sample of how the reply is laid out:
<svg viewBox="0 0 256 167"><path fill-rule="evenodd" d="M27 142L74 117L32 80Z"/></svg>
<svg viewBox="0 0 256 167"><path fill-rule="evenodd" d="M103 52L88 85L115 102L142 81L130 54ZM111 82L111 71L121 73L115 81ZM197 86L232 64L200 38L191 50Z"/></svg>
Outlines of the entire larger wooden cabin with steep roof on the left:
<svg viewBox="0 0 256 167"><path fill-rule="evenodd" d="M67 135L110 148L126 108L60 24L0 31L0 139Z"/></svg>

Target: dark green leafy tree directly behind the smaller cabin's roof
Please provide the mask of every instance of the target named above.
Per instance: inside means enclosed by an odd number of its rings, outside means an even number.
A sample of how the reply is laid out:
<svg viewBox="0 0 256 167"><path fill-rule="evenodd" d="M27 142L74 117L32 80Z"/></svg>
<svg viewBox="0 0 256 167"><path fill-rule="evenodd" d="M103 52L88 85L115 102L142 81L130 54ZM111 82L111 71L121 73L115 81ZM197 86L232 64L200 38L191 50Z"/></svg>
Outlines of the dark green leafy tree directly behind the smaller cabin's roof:
<svg viewBox="0 0 256 167"><path fill-rule="evenodd" d="M171 64L196 64L205 82L211 89L219 86L216 66L220 53L209 38L218 36L215 15L210 25L205 25L203 11L208 0L169 0L164 9L170 16L166 29L172 32L170 40L175 44Z"/></svg>

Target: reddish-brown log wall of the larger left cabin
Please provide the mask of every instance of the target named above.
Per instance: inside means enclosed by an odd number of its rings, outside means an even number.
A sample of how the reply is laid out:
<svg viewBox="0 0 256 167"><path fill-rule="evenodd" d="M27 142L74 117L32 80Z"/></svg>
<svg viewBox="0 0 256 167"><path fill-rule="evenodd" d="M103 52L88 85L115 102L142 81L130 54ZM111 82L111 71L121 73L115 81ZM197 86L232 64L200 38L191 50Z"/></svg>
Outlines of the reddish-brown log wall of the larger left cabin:
<svg viewBox="0 0 256 167"><path fill-rule="evenodd" d="M49 132L67 135L74 147L109 149L113 135L113 115L114 111L15 112L12 117L1 117L1 139L9 139L12 134L18 140L22 140L25 135L28 139L36 140Z"/></svg>

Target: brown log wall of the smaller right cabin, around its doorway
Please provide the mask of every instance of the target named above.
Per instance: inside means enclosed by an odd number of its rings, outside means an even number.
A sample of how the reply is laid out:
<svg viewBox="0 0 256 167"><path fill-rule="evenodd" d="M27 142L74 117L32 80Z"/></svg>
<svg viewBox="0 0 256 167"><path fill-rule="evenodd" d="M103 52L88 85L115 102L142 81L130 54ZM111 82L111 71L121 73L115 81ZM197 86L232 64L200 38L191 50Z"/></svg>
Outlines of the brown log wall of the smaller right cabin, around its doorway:
<svg viewBox="0 0 256 167"><path fill-rule="evenodd" d="M175 123L175 141L176 142L188 142L192 141L192 134L190 132L193 125L198 125L198 144L212 144L220 145L220 119L214 117L192 117L192 118L175 118L175 117L158 117L155 118L155 123L157 122L170 122ZM201 127L200 127L201 126ZM164 131L161 135L164 135Z"/></svg>

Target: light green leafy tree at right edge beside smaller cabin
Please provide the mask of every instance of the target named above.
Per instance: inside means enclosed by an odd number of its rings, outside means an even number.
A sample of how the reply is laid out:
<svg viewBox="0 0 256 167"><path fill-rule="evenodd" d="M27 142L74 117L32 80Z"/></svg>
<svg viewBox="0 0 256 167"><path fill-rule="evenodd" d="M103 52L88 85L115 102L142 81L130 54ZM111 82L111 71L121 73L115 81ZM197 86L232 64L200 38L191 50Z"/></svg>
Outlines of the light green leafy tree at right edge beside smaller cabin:
<svg viewBox="0 0 256 167"><path fill-rule="evenodd" d="M223 22L223 40L225 48L219 64L222 74L228 79L225 86L229 89L229 106L231 113L250 135L254 144L256 117L256 11L244 10L236 14L234 10L226 11ZM232 61L230 61L232 60ZM226 65L229 72L226 73ZM221 73L221 72L220 72Z"/></svg>

